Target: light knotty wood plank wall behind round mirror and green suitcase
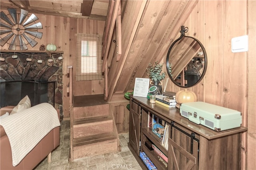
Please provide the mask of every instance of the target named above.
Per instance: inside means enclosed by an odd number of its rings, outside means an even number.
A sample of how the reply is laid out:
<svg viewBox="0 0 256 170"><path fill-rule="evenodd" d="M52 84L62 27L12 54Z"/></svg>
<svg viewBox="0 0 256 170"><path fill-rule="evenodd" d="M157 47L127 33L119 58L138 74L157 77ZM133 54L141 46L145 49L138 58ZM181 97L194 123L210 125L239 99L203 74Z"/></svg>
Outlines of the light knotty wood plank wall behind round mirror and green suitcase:
<svg viewBox="0 0 256 170"><path fill-rule="evenodd" d="M248 133L242 135L242 169L256 167L255 11L256 3L250 0L199 1L184 24L189 29L186 35L199 39L208 57L205 78L188 90L196 93L198 101L241 111L243 125L248 126ZM231 39L247 34L249 51L232 53ZM167 90L184 89L169 82Z"/></svg>

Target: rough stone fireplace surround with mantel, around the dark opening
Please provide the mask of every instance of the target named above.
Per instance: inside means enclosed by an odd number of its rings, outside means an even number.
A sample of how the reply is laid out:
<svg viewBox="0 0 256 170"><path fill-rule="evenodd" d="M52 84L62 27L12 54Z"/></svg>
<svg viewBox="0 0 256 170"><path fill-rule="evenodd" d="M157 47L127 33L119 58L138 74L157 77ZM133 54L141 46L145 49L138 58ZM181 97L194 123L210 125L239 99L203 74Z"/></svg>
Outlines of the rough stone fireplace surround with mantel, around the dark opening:
<svg viewBox="0 0 256 170"><path fill-rule="evenodd" d="M62 65L63 51L15 51L17 59L13 59L14 51L1 50L1 57L5 61L0 62L0 79L4 80L34 80L36 82L56 82L54 106L62 109ZM26 59L32 59L27 61ZM42 60L42 63L38 63Z"/></svg>

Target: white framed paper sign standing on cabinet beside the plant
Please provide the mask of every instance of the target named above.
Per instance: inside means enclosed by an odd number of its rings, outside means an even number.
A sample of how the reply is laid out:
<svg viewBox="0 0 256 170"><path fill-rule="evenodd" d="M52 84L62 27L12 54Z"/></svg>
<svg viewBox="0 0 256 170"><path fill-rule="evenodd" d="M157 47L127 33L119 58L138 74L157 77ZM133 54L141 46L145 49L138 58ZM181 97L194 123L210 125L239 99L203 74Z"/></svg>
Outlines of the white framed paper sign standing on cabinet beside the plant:
<svg viewBox="0 0 256 170"><path fill-rule="evenodd" d="M135 78L133 96L147 97L149 87L149 78Z"/></svg>

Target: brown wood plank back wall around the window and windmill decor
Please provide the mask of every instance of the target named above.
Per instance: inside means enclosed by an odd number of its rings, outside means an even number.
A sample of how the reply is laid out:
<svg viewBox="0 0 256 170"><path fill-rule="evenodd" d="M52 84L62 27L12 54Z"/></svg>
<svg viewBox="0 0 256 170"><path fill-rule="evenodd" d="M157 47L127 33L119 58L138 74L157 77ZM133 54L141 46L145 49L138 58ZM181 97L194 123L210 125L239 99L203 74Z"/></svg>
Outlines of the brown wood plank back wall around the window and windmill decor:
<svg viewBox="0 0 256 170"><path fill-rule="evenodd" d="M7 10L2 10L5 14L9 14ZM73 94L75 96L89 94L103 94L104 79L92 81L76 82L76 34L90 33L103 35L105 21L83 20L76 18L66 18L58 16L48 16L36 14L39 18L37 22L41 22L43 29L38 31L43 33L42 39L36 39L38 44L35 47L28 45L28 50L39 51L40 45L53 43L57 46L58 51L64 51L63 59L63 113L64 119L70 117L69 113L69 97L66 93L68 85L67 66L73 66ZM4 45L1 49L8 50L8 45Z"/></svg>

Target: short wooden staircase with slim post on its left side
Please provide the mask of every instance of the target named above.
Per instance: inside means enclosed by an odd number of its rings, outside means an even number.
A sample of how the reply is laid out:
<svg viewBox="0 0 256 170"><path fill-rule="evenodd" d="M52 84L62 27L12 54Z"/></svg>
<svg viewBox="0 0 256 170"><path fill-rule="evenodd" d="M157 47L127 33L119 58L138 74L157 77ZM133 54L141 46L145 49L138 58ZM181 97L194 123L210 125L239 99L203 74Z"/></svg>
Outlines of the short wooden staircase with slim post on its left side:
<svg viewBox="0 0 256 170"><path fill-rule="evenodd" d="M72 96L70 104L70 162L120 151L114 115L109 112L104 94Z"/></svg>

